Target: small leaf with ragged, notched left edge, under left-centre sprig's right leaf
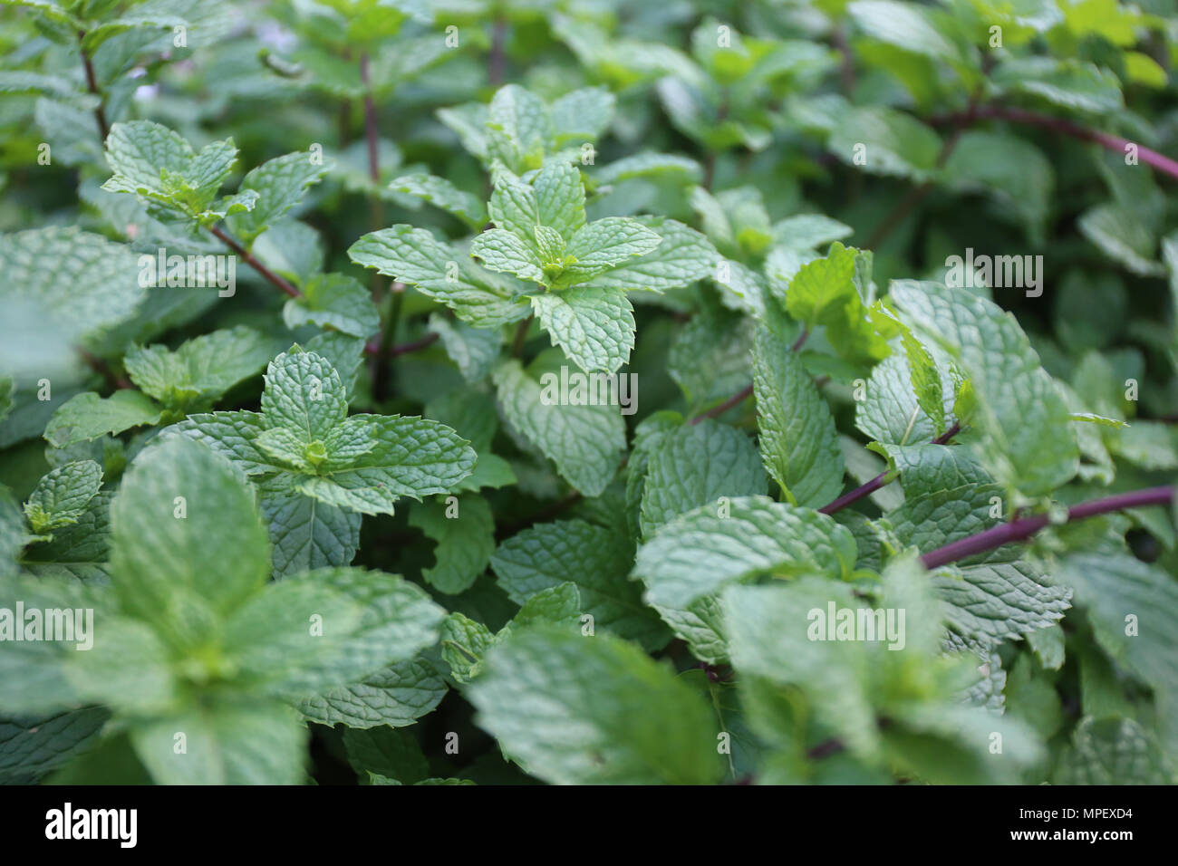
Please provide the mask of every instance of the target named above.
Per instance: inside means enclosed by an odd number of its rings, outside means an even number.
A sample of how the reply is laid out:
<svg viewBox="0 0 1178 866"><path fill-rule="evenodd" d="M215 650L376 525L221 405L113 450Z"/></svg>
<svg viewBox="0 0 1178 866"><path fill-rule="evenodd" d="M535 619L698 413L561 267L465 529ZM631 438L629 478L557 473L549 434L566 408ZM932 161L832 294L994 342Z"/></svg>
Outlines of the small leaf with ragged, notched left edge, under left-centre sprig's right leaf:
<svg viewBox="0 0 1178 866"><path fill-rule="evenodd" d="M422 569L422 577L446 595L470 589L495 551L495 518L479 497L423 502L409 513L409 525L437 542L434 567Z"/></svg>

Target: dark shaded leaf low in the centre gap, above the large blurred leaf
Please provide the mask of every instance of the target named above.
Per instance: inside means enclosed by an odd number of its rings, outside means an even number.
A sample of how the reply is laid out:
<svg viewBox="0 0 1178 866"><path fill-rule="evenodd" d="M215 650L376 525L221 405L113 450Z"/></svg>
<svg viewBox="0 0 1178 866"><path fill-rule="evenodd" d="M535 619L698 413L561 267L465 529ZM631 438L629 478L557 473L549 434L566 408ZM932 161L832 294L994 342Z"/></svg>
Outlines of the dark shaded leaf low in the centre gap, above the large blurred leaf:
<svg viewBox="0 0 1178 866"><path fill-rule="evenodd" d="M633 563L634 547L624 536L582 520L529 527L491 556L498 586L517 604L571 581L595 628L659 647L666 629L643 606L641 584L629 580Z"/></svg>

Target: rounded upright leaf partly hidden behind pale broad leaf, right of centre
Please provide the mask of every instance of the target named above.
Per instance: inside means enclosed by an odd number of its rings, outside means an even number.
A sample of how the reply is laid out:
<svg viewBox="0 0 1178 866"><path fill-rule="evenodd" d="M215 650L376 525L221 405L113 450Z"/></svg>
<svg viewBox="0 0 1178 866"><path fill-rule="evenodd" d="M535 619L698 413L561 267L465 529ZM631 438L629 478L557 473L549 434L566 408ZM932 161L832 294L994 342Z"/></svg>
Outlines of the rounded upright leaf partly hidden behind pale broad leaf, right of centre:
<svg viewBox="0 0 1178 866"><path fill-rule="evenodd" d="M704 418L661 437L651 449L642 488L642 534L650 536L669 520L721 496L767 491L768 480L749 438Z"/></svg>

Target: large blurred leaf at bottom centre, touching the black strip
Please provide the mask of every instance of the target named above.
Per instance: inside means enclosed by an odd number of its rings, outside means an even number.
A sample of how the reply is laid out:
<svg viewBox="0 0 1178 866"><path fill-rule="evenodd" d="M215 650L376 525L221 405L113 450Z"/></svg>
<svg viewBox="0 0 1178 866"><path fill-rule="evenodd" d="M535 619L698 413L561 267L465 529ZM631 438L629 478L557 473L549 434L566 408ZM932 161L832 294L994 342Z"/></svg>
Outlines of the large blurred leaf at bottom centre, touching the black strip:
<svg viewBox="0 0 1178 866"><path fill-rule="evenodd" d="M699 695L614 637L522 630L489 653L469 695L478 723L549 782L691 785L721 773Z"/></svg>

